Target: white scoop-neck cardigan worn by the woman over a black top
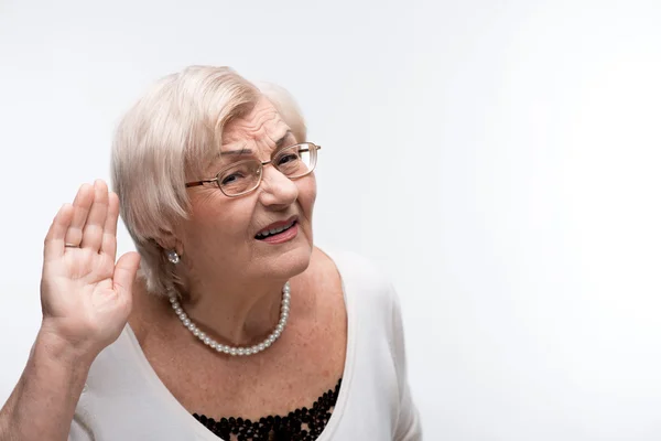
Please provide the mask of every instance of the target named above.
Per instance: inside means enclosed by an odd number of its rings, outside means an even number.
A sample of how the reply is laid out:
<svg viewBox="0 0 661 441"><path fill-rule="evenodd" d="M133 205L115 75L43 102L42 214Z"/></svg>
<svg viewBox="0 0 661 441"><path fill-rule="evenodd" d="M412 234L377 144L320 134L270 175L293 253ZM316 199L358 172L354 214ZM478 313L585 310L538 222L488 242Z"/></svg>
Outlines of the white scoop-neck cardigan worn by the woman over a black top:
<svg viewBox="0 0 661 441"><path fill-rule="evenodd" d="M337 404L317 440L421 440L398 297L367 260L329 256L343 281L347 353ZM76 408L69 441L91 440L221 441L170 394L129 325L91 365Z"/></svg>

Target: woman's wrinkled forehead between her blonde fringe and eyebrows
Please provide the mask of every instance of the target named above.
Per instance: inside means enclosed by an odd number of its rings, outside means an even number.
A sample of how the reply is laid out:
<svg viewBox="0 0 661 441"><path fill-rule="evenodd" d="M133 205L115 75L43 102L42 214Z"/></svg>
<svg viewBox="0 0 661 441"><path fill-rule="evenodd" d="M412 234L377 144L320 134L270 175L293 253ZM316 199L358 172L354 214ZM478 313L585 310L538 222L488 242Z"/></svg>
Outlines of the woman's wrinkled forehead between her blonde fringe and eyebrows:
<svg viewBox="0 0 661 441"><path fill-rule="evenodd" d="M261 98L242 118L230 121L223 131L221 151L257 144L274 147L290 131L275 107Z"/></svg>

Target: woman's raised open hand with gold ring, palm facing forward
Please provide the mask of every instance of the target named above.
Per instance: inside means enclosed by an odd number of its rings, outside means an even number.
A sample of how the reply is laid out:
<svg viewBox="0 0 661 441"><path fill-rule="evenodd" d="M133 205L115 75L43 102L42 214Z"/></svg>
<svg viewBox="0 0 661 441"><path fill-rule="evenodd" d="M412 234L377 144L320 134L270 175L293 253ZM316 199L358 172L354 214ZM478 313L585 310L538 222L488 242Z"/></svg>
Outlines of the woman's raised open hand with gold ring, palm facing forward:
<svg viewBox="0 0 661 441"><path fill-rule="evenodd" d="M131 312L140 256L127 252L115 263L118 217L119 200L104 181L84 184L44 240L42 332L80 355L96 357L115 342Z"/></svg>

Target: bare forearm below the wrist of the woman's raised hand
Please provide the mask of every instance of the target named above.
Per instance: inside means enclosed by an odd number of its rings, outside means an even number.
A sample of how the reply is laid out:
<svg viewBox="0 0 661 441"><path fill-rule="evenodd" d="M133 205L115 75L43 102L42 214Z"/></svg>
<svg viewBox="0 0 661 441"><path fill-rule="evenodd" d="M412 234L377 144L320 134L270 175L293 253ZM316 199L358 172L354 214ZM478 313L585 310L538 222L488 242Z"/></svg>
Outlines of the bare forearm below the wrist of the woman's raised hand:
<svg viewBox="0 0 661 441"><path fill-rule="evenodd" d="M0 441L66 440L93 359L42 330L0 411Z"/></svg>

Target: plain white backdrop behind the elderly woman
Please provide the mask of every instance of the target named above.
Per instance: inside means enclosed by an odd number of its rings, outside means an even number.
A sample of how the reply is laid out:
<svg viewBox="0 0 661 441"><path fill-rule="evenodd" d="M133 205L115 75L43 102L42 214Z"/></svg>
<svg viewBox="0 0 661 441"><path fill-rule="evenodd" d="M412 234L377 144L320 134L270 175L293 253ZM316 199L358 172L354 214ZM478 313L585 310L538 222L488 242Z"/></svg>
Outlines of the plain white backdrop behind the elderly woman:
<svg viewBox="0 0 661 441"><path fill-rule="evenodd" d="M317 243L392 276L426 440L661 439L658 0L0 0L0 401L52 217L189 64L297 98Z"/></svg>

